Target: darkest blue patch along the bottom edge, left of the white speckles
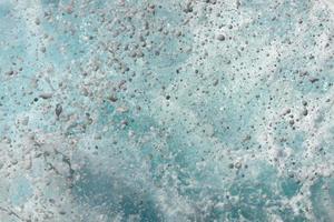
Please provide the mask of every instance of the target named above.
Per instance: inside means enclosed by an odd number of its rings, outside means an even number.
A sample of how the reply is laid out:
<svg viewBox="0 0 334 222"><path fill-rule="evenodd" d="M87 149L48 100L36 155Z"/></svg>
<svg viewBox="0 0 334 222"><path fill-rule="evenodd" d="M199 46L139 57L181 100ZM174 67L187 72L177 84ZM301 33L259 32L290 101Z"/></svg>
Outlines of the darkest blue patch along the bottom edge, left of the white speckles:
<svg viewBox="0 0 334 222"><path fill-rule="evenodd" d="M81 176L73 184L72 194L80 204L107 215L108 221L116 215L121 215L121 221L163 221L161 213L145 190L129 188L115 176L95 174L87 168L79 173Z"/></svg>

